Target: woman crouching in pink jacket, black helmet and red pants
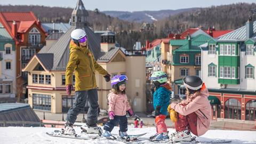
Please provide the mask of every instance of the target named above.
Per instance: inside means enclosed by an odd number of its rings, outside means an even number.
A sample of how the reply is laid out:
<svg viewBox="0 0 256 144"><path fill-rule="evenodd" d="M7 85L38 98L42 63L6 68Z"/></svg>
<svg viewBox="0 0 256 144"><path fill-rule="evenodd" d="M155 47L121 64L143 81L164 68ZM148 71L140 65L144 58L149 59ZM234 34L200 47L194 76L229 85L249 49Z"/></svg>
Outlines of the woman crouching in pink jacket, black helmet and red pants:
<svg viewBox="0 0 256 144"><path fill-rule="evenodd" d="M197 76L183 78L187 89L187 99L171 103L168 107L171 120L175 122L176 132L171 134L172 141L191 141L191 133L200 136L209 130L211 124L211 105L209 92L202 79ZM177 114L178 113L178 114Z"/></svg>

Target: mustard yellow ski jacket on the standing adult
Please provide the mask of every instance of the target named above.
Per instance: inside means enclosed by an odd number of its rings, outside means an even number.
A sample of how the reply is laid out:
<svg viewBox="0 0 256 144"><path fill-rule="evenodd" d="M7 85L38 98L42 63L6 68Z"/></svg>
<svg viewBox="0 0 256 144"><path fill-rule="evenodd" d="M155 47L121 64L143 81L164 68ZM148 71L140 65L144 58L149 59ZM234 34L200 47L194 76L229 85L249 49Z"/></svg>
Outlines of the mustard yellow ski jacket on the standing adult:
<svg viewBox="0 0 256 144"><path fill-rule="evenodd" d="M72 76L75 71L75 91L97 89L94 71L97 70L105 76L108 72L94 59L88 46L77 46L70 41L69 61L66 69L66 85L72 84Z"/></svg>

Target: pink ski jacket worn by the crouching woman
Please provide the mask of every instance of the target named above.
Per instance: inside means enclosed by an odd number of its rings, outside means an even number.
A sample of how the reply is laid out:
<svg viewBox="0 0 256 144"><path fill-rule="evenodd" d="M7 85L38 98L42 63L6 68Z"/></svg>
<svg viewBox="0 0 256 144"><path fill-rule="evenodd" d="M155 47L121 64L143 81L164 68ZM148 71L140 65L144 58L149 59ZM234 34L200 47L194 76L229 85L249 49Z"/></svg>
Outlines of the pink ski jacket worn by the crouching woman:
<svg viewBox="0 0 256 144"><path fill-rule="evenodd" d="M197 134L203 135L209 130L211 124L211 105L208 100L209 92L203 83L201 91L189 95L186 100L180 103L171 103L171 108L180 115L186 116L193 112L197 115Z"/></svg>

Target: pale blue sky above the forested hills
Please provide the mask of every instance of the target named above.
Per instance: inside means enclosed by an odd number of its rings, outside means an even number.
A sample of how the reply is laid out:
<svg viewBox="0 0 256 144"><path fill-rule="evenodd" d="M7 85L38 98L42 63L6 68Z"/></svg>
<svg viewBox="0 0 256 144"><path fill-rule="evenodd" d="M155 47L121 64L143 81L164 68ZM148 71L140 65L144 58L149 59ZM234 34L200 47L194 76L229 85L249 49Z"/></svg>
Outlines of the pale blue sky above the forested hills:
<svg viewBox="0 0 256 144"><path fill-rule="evenodd" d="M100 11L143 11L177 10L190 7L209 7L239 2L255 3L255 0L82 0L87 10L98 8ZM45 5L74 7L77 0L0 0L1 5Z"/></svg>

